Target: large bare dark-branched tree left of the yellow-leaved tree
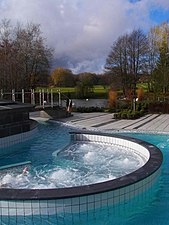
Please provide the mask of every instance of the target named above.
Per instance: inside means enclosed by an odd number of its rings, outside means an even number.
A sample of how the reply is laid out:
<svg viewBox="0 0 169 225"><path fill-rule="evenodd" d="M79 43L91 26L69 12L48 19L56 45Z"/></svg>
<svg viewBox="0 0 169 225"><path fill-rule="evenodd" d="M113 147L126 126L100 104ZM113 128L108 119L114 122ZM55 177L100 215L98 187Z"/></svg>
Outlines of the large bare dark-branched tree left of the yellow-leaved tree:
<svg viewBox="0 0 169 225"><path fill-rule="evenodd" d="M136 82L147 64L147 54L148 39L140 29L119 37L111 47L105 69L121 77L125 96L132 89L133 99L136 98Z"/></svg>

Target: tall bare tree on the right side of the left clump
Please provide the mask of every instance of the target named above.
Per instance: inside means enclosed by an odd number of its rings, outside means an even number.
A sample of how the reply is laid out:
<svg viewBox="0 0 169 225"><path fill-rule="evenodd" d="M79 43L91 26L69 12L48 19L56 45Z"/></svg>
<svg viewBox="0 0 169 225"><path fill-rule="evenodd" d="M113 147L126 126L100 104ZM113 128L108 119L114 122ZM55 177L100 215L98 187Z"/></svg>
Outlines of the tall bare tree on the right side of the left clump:
<svg viewBox="0 0 169 225"><path fill-rule="evenodd" d="M26 83L28 87L35 87L44 80L41 80L41 75L48 76L52 59L52 49L44 45L40 25L27 24L24 28L18 25L14 48L21 86Z"/></svg>

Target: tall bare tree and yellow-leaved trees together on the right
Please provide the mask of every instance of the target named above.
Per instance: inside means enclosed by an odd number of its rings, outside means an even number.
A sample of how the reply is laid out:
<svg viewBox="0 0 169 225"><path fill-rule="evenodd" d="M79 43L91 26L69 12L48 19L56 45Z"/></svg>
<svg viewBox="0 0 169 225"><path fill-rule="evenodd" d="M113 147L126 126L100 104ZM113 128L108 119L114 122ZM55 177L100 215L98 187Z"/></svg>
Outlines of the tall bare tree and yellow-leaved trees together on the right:
<svg viewBox="0 0 169 225"><path fill-rule="evenodd" d="M169 91L169 24L162 23L150 29L120 36L112 45L106 59L105 71L114 76L125 96L135 91L136 83L146 78L149 91ZM135 94L135 93L133 93Z"/></svg>

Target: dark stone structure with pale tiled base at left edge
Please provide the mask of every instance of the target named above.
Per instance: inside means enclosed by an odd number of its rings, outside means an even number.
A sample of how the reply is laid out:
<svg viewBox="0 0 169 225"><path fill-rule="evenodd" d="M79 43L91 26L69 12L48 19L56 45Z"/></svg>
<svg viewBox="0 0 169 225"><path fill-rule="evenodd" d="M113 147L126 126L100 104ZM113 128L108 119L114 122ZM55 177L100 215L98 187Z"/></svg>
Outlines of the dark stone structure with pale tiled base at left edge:
<svg viewBox="0 0 169 225"><path fill-rule="evenodd" d="M28 140L34 135L37 122L29 119L31 104L0 101L0 148Z"/></svg>

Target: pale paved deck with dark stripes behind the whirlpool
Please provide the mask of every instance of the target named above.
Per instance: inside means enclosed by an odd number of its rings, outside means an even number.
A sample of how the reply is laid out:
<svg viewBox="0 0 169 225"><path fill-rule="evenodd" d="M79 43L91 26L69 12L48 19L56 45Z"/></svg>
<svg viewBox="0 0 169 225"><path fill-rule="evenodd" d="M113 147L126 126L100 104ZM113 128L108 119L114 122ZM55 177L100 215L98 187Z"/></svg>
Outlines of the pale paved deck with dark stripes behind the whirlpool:
<svg viewBox="0 0 169 225"><path fill-rule="evenodd" d="M59 121L79 128L169 132L169 114L148 114L136 120L116 120L110 113L72 113Z"/></svg>

